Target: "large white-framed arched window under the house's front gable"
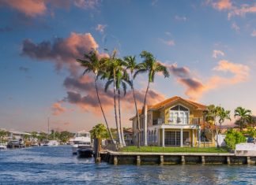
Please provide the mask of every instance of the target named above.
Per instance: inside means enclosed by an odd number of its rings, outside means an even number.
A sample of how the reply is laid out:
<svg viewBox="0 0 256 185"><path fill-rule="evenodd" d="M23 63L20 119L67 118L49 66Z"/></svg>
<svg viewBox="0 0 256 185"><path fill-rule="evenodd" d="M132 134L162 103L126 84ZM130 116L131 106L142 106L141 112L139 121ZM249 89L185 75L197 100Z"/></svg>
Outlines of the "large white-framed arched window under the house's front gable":
<svg viewBox="0 0 256 185"><path fill-rule="evenodd" d="M171 124L189 124L190 110L183 105L175 105L170 109Z"/></svg>

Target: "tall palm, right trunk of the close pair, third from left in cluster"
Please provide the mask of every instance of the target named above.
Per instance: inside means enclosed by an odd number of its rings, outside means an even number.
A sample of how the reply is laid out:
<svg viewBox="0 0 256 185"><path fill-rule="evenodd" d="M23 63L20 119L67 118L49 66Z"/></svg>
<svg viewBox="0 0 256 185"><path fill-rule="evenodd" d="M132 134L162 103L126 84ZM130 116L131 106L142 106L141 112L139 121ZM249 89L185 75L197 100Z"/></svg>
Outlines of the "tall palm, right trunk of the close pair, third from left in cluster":
<svg viewBox="0 0 256 185"><path fill-rule="evenodd" d="M126 95L126 83L130 84L129 76L126 73L126 69L124 68L124 61L118 60L117 61L119 65L117 65L116 70L115 70L115 87L118 92L118 106L119 106L119 128L120 128L120 136L122 140L122 146L126 146L126 142L124 139L124 134L123 134L123 128L122 128L122 118L121 118L121 102L120 102L120 94L121 94L121 87L124 92L124 96ZM111 83L114 83L114 76L111 73L110 76L108 76L107 83L105 84L105 91L107 91L108 87L110 86Z"/></svg>

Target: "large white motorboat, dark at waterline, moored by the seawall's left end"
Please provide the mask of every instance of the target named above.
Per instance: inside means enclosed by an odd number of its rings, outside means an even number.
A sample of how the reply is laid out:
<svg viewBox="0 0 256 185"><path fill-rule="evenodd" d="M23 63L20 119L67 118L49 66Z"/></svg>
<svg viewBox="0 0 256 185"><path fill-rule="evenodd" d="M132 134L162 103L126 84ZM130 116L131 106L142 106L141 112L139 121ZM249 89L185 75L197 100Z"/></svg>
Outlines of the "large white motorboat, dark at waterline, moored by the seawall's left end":
<svg viewBox="0 0 256 185"><path fill-rule="evenodd" d="M79 156L92 157L91 134L88 131L78 131L73 139L73 154Z"/></svg>

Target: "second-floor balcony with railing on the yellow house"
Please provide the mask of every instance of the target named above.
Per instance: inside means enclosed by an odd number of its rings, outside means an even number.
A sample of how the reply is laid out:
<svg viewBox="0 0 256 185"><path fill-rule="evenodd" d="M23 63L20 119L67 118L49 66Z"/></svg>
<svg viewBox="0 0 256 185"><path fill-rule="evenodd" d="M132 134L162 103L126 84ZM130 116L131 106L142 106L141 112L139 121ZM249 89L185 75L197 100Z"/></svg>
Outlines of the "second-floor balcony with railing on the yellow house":
<svg viewBox="0 0 256 185"><path fill-rule="evenodd" d="M164 118L157 118L154 119L152 124L200 124L203 122L203 119L201 117L165 117L166 121L164 121Z"/></svg>

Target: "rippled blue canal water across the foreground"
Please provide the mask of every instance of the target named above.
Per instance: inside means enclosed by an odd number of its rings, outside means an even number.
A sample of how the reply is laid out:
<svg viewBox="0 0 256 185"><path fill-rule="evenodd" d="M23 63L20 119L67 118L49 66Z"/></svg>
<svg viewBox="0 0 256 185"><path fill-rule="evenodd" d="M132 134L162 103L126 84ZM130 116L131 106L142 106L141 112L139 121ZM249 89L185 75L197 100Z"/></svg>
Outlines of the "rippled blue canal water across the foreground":
<svg viewBox="0 0 256 185"><path fill-rule="evenodd" d="M0 151L0 184L256 184L255 165L108 165L71 146Z"/></svg>

